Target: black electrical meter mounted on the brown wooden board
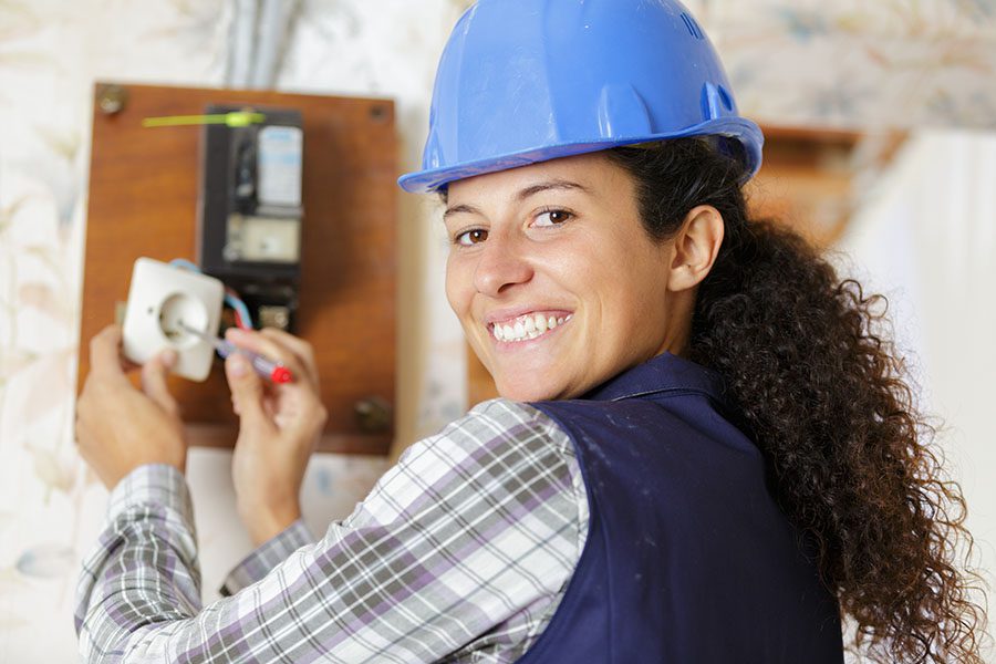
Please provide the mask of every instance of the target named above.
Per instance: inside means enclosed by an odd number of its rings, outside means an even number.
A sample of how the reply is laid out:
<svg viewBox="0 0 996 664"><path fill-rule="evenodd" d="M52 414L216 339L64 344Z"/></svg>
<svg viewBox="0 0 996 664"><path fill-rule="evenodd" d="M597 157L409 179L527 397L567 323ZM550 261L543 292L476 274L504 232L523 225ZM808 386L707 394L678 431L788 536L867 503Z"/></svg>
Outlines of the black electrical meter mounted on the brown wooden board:
<svg viewBox="0 0 996 664"><path fill-rule="evenodd" d="M292 108L211 104L201 137L200 269L234 288L258 326L293 331L301 281L304 134Z"/></svg>

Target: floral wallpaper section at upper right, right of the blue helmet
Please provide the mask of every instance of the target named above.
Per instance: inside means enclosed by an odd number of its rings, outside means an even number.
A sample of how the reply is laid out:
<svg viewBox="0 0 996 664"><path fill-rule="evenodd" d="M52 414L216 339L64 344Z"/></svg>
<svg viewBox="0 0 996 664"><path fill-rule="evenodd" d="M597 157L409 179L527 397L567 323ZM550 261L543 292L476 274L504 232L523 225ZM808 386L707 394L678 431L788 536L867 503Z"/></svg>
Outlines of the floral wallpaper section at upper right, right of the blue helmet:
<svg viewBox="0 0 996 664"><path fill-rule="evenodd" d="M701 0L741 108L784 124L996 127L994 0Z"/></svg>

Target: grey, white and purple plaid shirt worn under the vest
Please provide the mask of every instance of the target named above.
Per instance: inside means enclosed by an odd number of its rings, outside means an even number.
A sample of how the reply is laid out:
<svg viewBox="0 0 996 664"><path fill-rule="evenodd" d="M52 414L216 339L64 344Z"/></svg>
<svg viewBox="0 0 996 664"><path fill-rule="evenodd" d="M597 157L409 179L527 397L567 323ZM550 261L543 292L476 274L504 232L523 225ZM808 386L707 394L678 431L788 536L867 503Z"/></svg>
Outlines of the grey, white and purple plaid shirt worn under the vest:
<svg viewBox="0 0 996 664"><path fill-rule="evenodd" d="M111 496L80 579L86 662L511 662L581 556L588 499L570 439L487 402L414 445L312 543L270 540L203 606L189 494L144 466Z"/></svg>

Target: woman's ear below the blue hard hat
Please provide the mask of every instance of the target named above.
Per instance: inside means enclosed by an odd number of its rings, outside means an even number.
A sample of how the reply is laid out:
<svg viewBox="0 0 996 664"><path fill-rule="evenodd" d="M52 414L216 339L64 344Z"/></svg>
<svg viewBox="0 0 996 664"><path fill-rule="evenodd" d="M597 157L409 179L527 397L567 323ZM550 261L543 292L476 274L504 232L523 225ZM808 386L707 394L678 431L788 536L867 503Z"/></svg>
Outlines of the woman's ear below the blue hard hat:
<svg viewBox="0 0 996 664"><path fill-rule="evenodd" d="M701 205L688 212L674 237L668 290L688 290L706 278L719 253L723 232L723 215L713 206Z"/></svg>

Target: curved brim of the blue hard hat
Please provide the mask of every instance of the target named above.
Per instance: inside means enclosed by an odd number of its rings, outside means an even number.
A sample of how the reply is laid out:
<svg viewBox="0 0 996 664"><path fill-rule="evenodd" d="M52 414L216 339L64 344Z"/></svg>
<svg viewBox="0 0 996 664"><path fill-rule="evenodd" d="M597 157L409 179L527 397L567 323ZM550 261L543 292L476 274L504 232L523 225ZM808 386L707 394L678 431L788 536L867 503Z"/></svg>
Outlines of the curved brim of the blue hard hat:
<svg viewBox="0 0 996 664"><path fill-rule="evenodd" d="M706 121L679 132L543 145L488 159L464 162L442 168L417 170L401 176L397 179L397 184L402 189L412 194L429 194L439 190L449 183L485 175L487 173L498 173L510 168L519 168L530 164L548 162L550 159L582 155L625 145L653 143L689 136L725 136L739 141L744 146L744 166L746 168L744 181L750 179L750 177L753 177L760 168L761 147L764 145L764 134L761 133L760 127L745 117L722 117Z"/></svg>

